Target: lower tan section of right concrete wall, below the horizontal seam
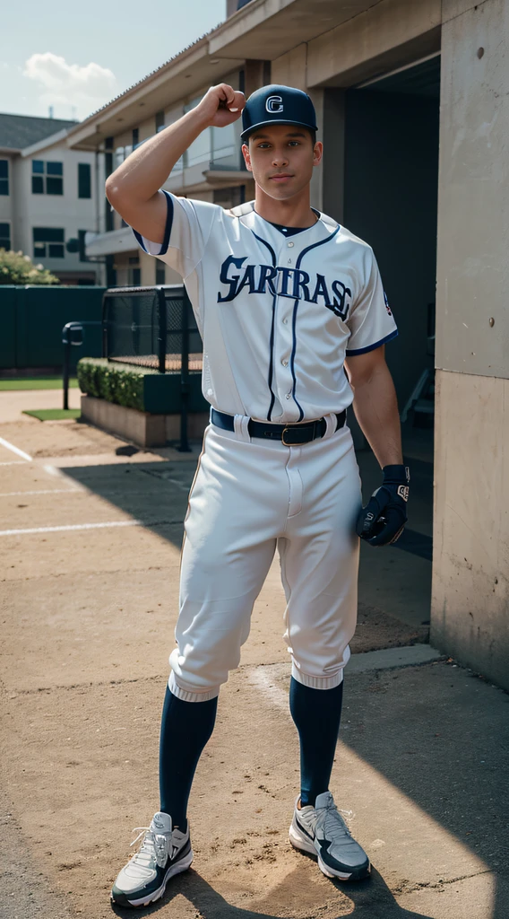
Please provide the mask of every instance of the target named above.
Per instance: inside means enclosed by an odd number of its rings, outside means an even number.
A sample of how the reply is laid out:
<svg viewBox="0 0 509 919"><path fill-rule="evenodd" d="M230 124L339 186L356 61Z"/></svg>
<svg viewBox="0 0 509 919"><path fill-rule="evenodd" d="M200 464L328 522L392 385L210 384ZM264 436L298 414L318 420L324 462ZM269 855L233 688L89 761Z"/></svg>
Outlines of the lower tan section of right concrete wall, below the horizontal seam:
<svg viewBox="0 0 509 919"><path fill-rule="evenodd" d="M437 370L431 643L509 689L509 381Z"/></svg>

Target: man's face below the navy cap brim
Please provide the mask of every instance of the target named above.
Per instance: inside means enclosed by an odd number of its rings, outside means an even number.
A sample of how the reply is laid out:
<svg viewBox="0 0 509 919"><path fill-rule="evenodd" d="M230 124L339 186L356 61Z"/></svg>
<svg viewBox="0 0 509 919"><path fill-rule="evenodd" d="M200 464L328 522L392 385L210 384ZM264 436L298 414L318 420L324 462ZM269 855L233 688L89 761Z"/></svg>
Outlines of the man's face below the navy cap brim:
<svg viewBox="0 0 509 919"><path fill-rule="evenodd" d="M322 144L298 125L264 125L242 145L246 166L271 198L293 198L306 187L322 159Z"/></svg>

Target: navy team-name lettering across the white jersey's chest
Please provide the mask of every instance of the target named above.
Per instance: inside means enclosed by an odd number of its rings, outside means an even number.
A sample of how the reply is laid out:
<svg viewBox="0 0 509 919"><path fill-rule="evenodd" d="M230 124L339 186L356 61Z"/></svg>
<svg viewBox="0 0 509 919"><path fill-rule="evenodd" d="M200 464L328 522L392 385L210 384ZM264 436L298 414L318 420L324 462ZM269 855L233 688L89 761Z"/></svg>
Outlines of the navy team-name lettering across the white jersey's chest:
<svg viewBox="0 0 509 919"><path fill-rule="evenodd" d="M218 303L234 301L244 290L248 293L269 292L273 297L287 297L290 300L304 300L307 303L321 303L327 310L332 310L342 320L349 314L351 290L337 278L327 280L318 273L311 277L300 268L287 268L272 265L247 265L248 256L235 258L228 255L223 262L219 281L227 286L227 292L217 293ZM233 270L232 270L233 269ZM242 273L235 269L242 269Z"/></svg>

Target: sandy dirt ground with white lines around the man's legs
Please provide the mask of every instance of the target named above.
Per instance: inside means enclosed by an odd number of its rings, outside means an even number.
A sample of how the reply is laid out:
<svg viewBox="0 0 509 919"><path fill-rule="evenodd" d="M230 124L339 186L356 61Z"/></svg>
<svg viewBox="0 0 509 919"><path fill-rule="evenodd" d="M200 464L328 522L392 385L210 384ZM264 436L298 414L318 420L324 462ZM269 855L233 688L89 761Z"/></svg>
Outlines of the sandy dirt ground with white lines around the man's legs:
<svg viewBox="0 0 509 919"><path fill-rule="evenodd" d="M10 447L0 442L0 916L105 919L131 830L158 805L160 709L198 447L192 456L171 448L126 456L122 441L77 422L40 423L11 408L2 424L2 398L0 437ZM446 663L347 677L331 788L374 871L355 887L331 883L287 837L298 747L283 608L275 562L198 767L194 867L144 914L463 919L454 912L461 895L470 898L470 919L498 919L493 872L503 855L450 800L455 781L464 781L455 751L471 705L482 705L483 722L468 755L481 760L498 730L491 694L502 694L470 676L470 701L449 711L445 695L460 693L466 677ZM426 641L426 626L387 610L364 604L359 620L356 653ZM433 745L431 767L425 753ZM444 779L452 756L455 775ZM491 773L482 794L479 806L495 821L489 802L503 795L503 774Z"/></svg>

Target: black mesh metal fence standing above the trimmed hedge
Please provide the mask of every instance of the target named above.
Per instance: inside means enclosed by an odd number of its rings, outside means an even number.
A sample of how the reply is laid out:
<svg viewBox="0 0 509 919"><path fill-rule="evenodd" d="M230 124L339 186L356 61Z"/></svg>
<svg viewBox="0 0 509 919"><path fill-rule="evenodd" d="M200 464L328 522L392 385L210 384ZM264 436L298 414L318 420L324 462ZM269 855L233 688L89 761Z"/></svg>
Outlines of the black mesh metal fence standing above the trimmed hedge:
<svg viewBox="0 0 509 919"><path fill-rule="evenodd" d="M103 323L108 360L160 373L202 370L202 340L183 285L108 289Z"/></svg>

